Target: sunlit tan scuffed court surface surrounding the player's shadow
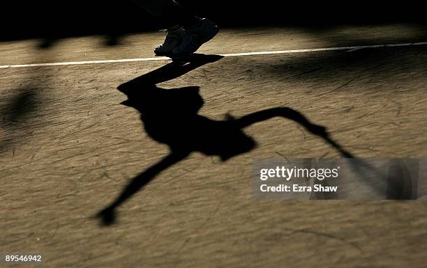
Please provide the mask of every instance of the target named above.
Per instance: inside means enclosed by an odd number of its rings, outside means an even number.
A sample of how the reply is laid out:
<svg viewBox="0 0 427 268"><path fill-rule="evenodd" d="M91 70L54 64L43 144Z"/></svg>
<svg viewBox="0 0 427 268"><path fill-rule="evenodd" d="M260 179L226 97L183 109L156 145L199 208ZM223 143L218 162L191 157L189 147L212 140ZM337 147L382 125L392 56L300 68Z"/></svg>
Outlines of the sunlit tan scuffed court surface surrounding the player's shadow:
<svg viewBox="0 0 427 268"><path fill-rule="evenodd" d="M200 53L425 42L426 30L226 29ZM152 57L162 39L3 42L0 65ZM193 153L163 171L101 228L91 216L168 153L117 86L165 64L0 70L0 253L43 253L43 267L425 267L426 201L253 200L256 159L339 157L283 118L245 129L250 152ZM222 58L158 86L200 86L200 114L215 120L290 107L357 157L426 157L426 73L427 46L389 47Z"/></svg>

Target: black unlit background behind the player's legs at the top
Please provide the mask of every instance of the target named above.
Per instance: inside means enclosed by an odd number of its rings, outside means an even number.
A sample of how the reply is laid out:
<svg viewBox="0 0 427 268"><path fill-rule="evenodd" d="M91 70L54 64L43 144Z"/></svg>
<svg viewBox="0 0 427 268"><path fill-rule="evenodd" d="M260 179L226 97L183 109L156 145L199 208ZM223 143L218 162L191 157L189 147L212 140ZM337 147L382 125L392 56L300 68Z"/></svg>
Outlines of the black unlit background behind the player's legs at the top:
<svg viewBox="0 0 427 268"><path fill-rule="evenodd" d="M415 1L179 1L221 27L425 22ZM130 0L3 2L1 40L122 35L154 31L163 25Z"/></svg>

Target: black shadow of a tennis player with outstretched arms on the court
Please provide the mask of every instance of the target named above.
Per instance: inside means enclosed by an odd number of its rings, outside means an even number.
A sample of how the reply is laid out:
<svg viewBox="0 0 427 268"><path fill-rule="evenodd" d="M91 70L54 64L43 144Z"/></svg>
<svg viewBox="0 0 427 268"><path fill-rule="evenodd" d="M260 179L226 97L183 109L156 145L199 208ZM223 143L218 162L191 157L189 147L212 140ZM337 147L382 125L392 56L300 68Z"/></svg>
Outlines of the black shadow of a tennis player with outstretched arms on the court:
<svg viewBox="0 0 427 268"><path fill-rule="evenodd" d="M220 58L222 57L199 54L175 59L172 63L118 87L128 97L128 100L122 104L140 112L147 134L151 139L167 144L170 153L130 180L121 194L98 213L103 225L114 223L115 212L119 205L142 189L160 172L185 159L190 153L201 152L227 161L231 157L253 150L257 145L256 142L252 137L244 134L242 129L270 118L281 117L293 120L305 127L308 132L321 136L345 157L352 157L349 152L329 138L325 127L310 123L303 114L294 109L277 107L250 113L241 118L227 115L226 120L212 120L198 114L204 104L198 86L172 89L156 86L204 64L218 61Z"/></svg>

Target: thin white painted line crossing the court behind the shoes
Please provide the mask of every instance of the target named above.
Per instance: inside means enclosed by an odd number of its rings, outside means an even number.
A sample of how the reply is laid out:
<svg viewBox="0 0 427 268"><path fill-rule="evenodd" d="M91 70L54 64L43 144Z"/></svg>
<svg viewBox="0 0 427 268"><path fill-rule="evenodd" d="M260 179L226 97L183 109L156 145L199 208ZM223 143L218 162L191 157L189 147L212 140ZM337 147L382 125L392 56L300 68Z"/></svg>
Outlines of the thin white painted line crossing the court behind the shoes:
<svg viewBox="0 0 427 268"><path fill-rule="evenodd" d="M412 42L401 44L387 44L387 45L364 45L354 47L324 47L318 49L292 49L292 50L277 50L272 52L244 52L244 53L230 53L219 54L225 57L234 56L252 56L252 55L269 55L269 54L291 54L291 53L304 53L304 52L326 52L334 50L349 50L354 52L359 49L377 48L377 47L409 47L417 45L427 45L427 42ZM31 64L15 64L15 65L0 65L0 69L6 68L24 68L24 67L40 67L40 66L63 66L63 65L82 65L82 64L99 64L99 63L131 63L137 61L170 61L169 57L155 57L155 58L122 58L118 60L102 60L102 61L67 61L63 63L31 63Z"/></svg>

